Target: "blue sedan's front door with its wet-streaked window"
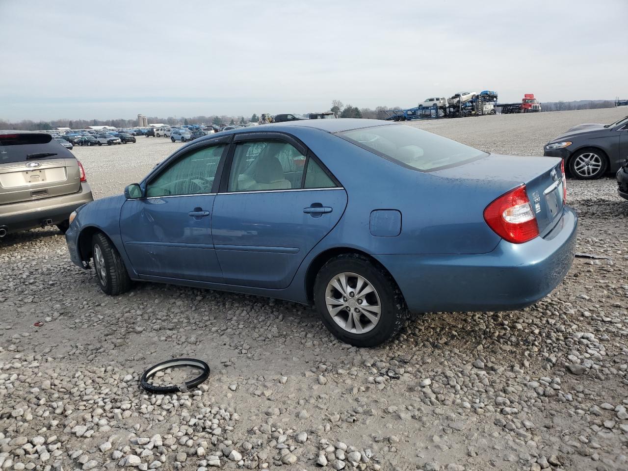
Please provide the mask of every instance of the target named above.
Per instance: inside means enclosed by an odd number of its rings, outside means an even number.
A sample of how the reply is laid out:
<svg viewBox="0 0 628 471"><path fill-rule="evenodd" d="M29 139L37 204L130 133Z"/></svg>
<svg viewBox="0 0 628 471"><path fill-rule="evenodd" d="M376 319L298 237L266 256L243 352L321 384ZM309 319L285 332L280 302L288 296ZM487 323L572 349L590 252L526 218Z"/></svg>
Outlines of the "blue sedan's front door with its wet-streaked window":
<svg viewBox="0 0 628 471"><path fill-rule="evenodd" d="M122 205L124 249L143 278L222 281L211 222L215 179L229 139L175 155L144 181L143 197Z"/></svg>

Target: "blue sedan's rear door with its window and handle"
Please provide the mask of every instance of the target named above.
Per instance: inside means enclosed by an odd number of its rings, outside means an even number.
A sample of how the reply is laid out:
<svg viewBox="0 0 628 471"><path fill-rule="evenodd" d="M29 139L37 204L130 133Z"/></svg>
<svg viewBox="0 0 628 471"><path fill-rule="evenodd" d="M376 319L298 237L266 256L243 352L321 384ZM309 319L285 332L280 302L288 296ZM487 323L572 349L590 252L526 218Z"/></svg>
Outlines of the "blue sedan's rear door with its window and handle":
<svg viewBox="0 0 628 471"><path fill-rule="evenodd" d="M344 188L300 141L236 134L212 219L224 282L286 288L346 205Z"/></svg>

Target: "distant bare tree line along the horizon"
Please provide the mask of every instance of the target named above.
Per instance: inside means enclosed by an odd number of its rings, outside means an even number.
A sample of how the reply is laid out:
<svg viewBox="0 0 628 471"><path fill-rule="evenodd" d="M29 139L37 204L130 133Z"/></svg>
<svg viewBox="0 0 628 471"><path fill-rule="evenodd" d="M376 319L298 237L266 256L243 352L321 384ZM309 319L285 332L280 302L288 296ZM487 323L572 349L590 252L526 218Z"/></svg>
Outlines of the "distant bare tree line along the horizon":
<svg viewBox="0 0 628 471"><path fill-rule="evenodd" d="M576 109L612 108L615 103L611 100L578 100L578 101L557 101L541 102L541 111L570 111ZM365 118L365 119L385 119L386 110L400 109L399 106L387 107L377 106L375 109L358 108L350 104L345 105L340 100L333 100L330 111L337 117L343 118ZM180 126L181 124L246 124L247 122L257 122L259 117L253 113L250 119L244 116L210 115L192 117L158 117L149 116L148 122L161 122L170 126ZM0 119L0 129L19 129L23 131L48 131L56 127L69 127L70 129L84 129L87 126L114 126L114 127L135 127L137 119L54 119L52 121L32 121L24 119L19 122L11 122Z"/></svg>

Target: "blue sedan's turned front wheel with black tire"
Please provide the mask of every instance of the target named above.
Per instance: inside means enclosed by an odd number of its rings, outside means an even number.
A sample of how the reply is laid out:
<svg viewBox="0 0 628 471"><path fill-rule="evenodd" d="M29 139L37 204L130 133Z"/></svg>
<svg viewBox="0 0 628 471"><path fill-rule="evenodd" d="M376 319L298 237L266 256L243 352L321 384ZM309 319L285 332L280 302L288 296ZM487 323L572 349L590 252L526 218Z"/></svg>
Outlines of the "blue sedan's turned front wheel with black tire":
<svg viewBox="0 0 628 471"><path fill-rule="evenodd" d="M131 289L131 278L120 254L102 232L92 237L92 255L96 281L103 293L117 296Z"/></svg>

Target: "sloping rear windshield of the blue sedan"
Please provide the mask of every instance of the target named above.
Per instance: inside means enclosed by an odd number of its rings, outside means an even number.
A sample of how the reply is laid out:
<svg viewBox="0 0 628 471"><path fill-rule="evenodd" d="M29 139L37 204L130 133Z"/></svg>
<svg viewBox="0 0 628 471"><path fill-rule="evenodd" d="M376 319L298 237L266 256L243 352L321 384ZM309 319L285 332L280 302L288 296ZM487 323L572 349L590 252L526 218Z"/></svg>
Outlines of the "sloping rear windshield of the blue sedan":
<svg viewBox="0 0 628 471"><path fill-rule="evenodd" d="M488 155L451 139L403 124L364 127L338 133L338 136L401 166L420 171L441 170Z"/></svg>

